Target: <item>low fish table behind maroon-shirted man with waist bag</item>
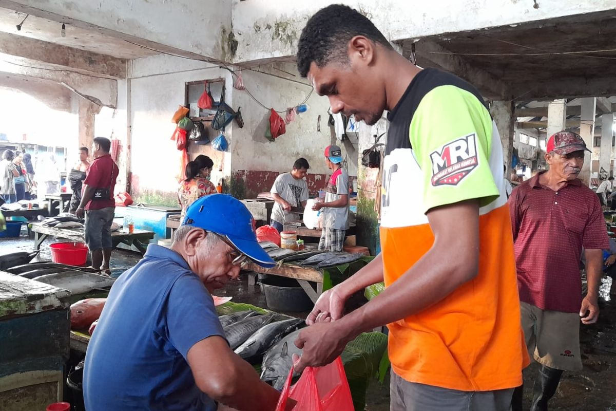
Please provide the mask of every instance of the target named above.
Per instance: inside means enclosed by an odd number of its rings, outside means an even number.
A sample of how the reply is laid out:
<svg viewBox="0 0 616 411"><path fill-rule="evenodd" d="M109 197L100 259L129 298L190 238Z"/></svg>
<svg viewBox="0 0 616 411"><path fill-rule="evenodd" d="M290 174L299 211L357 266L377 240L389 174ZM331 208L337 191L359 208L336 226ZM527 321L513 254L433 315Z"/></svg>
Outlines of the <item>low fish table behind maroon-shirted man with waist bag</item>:
<svg viewBox="0 0 616 411"><path fill-rule="evenodd" d="M57 238L66 238L67 240L74 242L84 242L84 230L83 228L71 228L71 229L59 229L55 227L41 226L40 224L33 224L32 231L34 232L34 249L38 250L41 244L50 235ZM149 243L154 238L154 232L148 230L135 229L131 234L124 231L112 231L111 241L113 246L123 243L128 246L135 246L137 250L143 255L145 254L144 243Z"/></svg>

